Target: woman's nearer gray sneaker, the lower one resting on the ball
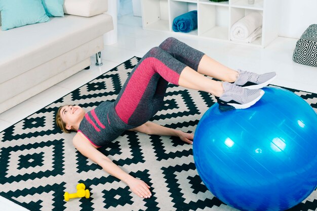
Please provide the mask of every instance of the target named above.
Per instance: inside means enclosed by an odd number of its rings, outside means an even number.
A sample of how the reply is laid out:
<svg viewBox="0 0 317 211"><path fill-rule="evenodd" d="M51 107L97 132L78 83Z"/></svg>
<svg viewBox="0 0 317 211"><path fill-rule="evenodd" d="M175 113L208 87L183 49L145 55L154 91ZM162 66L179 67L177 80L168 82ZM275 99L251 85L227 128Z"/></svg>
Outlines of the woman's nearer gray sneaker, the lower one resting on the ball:
<svg viewBox="0 0 317 211"><path fill-rule="evenodd" d="M221 111L247 109L264 94L261 89L246 89L228 82L223 82L222 86L224 93L220 97L216 97Z"/></svg>

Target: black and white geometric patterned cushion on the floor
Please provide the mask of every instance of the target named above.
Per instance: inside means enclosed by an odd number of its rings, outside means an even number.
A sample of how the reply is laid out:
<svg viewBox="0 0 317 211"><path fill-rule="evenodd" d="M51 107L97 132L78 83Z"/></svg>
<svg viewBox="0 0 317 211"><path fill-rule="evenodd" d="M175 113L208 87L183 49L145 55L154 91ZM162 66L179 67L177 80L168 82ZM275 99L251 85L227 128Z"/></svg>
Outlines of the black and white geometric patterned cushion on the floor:
<svg viewBox="0 0 317 211"><path fill-rule="evenodd" d="M317 67L317 24L310 25L297 41L293 61Z"/></svg>

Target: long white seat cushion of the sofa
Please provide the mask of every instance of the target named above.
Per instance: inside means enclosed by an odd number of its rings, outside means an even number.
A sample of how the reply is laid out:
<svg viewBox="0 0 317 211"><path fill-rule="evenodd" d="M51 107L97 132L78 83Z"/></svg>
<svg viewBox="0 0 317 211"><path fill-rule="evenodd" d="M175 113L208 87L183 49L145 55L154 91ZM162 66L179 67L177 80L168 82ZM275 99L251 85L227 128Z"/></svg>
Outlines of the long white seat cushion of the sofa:
<svg viewBox="0 0 317 211"><path fill-rule="evenodd" d="M113 29L112 23L107 14L90 18L65 15L47 23L0 31L0 83L102 36Z"/></svg>

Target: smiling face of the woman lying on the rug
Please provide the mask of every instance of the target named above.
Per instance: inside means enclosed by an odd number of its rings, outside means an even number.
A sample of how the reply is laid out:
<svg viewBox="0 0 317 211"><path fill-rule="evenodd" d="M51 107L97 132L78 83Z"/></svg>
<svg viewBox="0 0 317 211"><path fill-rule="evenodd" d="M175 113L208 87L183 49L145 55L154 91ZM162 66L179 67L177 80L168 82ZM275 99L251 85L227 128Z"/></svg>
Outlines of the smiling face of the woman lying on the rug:
<svg viewBox="0 0 317 211"><path fill-rule="evenodd" d="M70 130L72 126L79 124L83 120L85 111L79 105L65 105L60 110L60 116L66 123L66 129Z"/></svg>

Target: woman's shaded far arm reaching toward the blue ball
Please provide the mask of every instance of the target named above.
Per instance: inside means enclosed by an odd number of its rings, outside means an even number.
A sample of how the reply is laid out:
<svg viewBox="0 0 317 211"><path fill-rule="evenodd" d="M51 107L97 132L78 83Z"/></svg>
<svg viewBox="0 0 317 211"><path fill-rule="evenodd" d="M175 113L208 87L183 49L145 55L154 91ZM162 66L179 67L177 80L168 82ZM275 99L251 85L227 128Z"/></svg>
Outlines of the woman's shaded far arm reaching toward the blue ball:
<svg viewBox="0 0 317 211"><path fill-rule="evenodd" d="M192 133L185 133L181 130L164 127L153 122L146 122L145 124L131 129L148 135L165 135L165 136L178 136L182 141L192 144L194 135Z"/></svg>

